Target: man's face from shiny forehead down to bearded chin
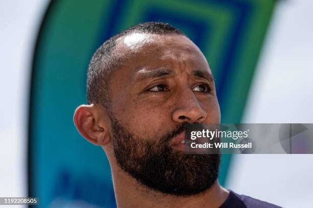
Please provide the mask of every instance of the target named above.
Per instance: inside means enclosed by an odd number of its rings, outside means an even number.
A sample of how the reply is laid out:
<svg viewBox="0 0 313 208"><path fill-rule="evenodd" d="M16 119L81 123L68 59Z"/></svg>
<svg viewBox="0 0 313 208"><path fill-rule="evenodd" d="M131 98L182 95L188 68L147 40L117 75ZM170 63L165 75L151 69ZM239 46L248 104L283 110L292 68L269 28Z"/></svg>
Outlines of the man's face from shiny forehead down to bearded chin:
<svg viewBox="0 0 313 208"><path fill-rule="evenodd" d="M219 123L210 67L182 35L130 34L116 52L125 60L110 80L109 117L120 167L141 184L190 195L216 181L219 155L184 154L185 123Z"/></svg>

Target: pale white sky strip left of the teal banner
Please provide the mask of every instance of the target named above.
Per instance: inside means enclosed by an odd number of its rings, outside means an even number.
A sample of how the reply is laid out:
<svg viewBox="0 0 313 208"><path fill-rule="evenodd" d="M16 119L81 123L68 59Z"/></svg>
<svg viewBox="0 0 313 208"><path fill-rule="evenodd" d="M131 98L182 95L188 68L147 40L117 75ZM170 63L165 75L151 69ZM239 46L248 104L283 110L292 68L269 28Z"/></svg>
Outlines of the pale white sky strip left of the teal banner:
<svg viewBox="0 0 313 208"><path fill-rule="evenodd" d="M48 2L0 0L0 197L27 195L31 62Z"/></svg>

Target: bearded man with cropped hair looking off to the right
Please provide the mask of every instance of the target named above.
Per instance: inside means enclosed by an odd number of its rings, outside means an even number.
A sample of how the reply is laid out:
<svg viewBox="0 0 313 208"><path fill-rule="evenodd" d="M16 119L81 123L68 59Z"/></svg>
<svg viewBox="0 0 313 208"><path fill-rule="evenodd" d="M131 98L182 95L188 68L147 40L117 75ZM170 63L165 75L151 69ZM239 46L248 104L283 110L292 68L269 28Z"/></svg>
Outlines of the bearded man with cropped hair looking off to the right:
<svg viewBox="0 0 313 208"><path fill-rule="evenodd" d="M169 24L107 40L87 75L75 125L110 163L118 207L277 207L218 184L219 154L185 154L184 124L220 123L212 72Z"/></svg>

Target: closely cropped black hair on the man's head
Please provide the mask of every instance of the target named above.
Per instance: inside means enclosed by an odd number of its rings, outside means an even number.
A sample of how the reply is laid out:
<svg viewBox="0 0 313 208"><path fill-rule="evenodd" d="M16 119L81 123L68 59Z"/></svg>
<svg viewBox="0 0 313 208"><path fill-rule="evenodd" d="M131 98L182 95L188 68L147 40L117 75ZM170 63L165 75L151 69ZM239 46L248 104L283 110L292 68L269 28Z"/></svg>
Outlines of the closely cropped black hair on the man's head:
<svg viewBox="0 0 313 208"><path fill-rule="evenodd" d="M115 53L120 37L131 33L177 34L184 35L180 30L164 22L145 22L128 28L106 40L95 52L87 73L87 102L100 103L107 109L110 105L109 77L121 66L122 60Z"/></svg>

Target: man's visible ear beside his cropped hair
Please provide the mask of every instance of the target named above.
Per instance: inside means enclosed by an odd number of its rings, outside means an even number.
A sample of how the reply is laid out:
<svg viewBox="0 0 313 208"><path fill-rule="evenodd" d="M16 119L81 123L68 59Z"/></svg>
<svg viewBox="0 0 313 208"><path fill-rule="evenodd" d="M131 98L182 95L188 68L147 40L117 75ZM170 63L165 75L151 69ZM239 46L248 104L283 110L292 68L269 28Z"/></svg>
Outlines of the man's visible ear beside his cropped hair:
<svg viewBox="0 0 313 208"><path fill-rule="evenodd" d="M102 107L102 106L101 106ZM105 145L110 141L104 107L81 105L74 113L74 123L78 132L95 145Z"/></svg>

